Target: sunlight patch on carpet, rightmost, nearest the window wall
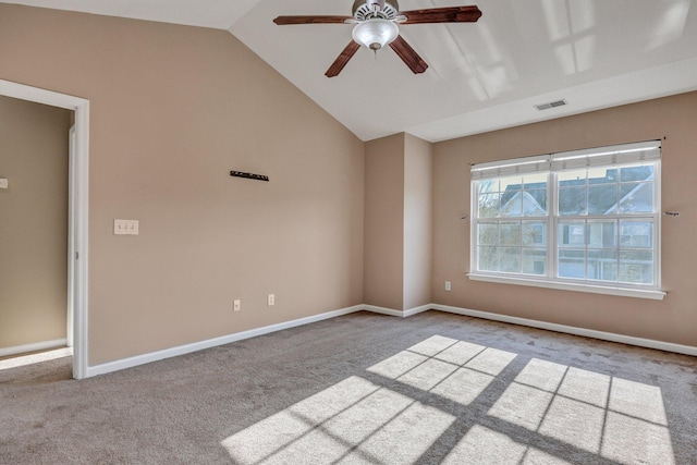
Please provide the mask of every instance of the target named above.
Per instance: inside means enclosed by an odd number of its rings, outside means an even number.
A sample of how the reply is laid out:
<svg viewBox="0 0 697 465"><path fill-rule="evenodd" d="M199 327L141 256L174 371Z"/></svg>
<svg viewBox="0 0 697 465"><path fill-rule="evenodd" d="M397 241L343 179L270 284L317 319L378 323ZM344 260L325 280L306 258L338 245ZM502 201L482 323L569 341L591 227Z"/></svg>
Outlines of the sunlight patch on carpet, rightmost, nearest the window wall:
<svg viewBox="0 0 697 465"><path fill-rule="evenodd" d="M534 358L488 415L622 464L674 463L653 386Z"/></svg>

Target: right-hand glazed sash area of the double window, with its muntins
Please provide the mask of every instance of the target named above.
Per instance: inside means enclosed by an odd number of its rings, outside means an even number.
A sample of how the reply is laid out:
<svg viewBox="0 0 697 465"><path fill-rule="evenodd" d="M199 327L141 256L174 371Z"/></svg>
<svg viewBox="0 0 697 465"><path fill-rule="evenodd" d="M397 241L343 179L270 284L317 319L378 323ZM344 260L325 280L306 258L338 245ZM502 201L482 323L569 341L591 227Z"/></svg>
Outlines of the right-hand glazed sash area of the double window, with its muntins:
<svg viewBox="0 0 697 465"><path fill-rule="evenodd" d="M555 278L655 284L655 163L554 174Z"/></svg>

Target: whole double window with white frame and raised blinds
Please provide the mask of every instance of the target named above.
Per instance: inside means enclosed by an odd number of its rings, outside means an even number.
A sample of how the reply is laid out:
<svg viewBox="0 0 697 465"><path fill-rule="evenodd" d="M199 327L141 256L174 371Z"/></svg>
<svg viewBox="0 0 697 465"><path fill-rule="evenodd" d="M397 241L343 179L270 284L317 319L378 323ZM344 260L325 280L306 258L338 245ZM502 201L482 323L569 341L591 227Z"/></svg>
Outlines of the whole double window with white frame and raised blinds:
<svg viewBox="0 0 697 465"><path fill-rule="evenodd" d="M472 168L470 279L662 298L660 142Z"/></svg>

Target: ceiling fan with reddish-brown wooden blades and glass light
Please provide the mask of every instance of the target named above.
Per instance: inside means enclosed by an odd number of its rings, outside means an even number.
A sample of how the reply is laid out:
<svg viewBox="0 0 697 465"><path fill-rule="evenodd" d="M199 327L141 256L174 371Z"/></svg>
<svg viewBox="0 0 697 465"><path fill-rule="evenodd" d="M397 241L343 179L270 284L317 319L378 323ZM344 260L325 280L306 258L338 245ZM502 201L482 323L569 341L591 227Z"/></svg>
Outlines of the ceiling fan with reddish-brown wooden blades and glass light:
<svg viewBox="0 0 697 465"><path fill-rule="evenodd" d="M360 46L365 46L377 53L382 47L389 45L414 74L423 73L428 69L428 64L400 35L399 25L475 23L480 16L481 11L475 5L400 11L396 0L356 0L353 3L353 16L279 16L273 22L281 26L293 24L355 24L352 33L353 40L325 73L327 77L334 77L341 73L341 70L344 69Z"/></svg>

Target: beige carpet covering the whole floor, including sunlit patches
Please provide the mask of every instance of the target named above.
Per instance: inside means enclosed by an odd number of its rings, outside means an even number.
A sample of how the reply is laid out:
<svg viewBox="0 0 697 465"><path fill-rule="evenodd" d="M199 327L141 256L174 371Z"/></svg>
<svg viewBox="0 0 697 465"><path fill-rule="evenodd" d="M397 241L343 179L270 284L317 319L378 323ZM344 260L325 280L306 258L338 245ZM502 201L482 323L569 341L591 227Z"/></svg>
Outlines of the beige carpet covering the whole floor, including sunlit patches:
<svg viewBox="0 0 697 465"><path fill-rule="evenodd" d="M359 313L84 381L0 370L0 463L695 465L696 362Z"/></svg>

